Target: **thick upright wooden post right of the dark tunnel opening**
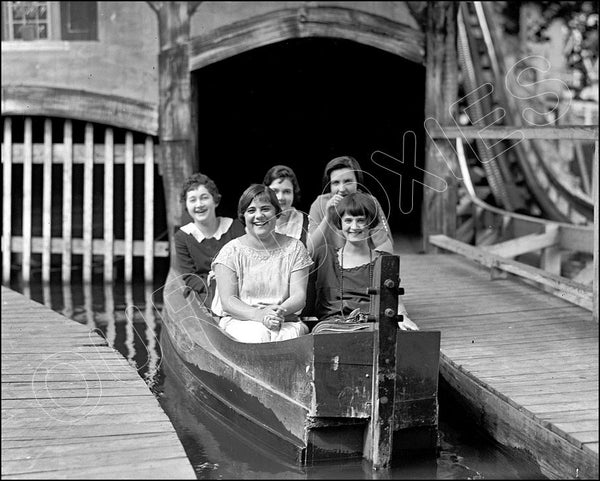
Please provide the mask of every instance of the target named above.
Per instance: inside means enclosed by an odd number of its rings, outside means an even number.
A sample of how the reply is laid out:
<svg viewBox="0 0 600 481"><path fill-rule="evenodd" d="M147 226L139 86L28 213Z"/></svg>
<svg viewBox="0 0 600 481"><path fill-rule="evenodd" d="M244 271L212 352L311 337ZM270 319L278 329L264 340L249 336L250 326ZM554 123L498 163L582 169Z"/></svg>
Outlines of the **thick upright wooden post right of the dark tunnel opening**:
<svg viewBox="0 0 600 481"><path fill-rule="evenodd" d="M450 106L458 95L458 67L456 53L456 27L458 4L454 2L427 2L427 79L425 85L425 118L434 119L440 125L450 125ZM457 179L458 161L452 146L446 141L427 139L425 145L425 185L435 185L431 175L443 178L450 195L424 187L422 206L423 247L430 251L430 234L444 232L450 237L456 234L456 205L452 191ZM448 167L448 164L450 167ZM439 182L439 181L438 181Z"/></svg>

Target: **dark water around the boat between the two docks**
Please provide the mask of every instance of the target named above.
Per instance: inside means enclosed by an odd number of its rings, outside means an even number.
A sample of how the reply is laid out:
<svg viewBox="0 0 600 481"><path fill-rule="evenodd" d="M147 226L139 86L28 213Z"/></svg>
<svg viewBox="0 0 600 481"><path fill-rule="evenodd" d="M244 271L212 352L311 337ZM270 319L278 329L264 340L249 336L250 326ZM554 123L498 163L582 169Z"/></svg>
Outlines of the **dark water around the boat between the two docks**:
<svg viewBox="0 0 600 481"><path fill-rule="evenodd" d="M440 385L437 459L415 459L374 472L364 461L328 462L300 468L249 443L192 399L160 363L160 286L101 283L70 289L60 282L11 287L51 309L96 329L132 364L171 419L198 479L544 479L520 453L506 449L473 426Z"/></svg>

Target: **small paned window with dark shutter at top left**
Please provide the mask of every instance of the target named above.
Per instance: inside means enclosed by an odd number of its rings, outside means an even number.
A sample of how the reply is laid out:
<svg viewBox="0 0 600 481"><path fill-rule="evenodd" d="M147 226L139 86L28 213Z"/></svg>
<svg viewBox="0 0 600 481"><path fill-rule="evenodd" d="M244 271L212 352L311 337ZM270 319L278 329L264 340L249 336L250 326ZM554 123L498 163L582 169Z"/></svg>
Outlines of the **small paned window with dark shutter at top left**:
<svg viewBox="0 0 600 481"><path fill-rule="evenodd" d="M97 2L2 2L2 40L97 40Z"/></svg>

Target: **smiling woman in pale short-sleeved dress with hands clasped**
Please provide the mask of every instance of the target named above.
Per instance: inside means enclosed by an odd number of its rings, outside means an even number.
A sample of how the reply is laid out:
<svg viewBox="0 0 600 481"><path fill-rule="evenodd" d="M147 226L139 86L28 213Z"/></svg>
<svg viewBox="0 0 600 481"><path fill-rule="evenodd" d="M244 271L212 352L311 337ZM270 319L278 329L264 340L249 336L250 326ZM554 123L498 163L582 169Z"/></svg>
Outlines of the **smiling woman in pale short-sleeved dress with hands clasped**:
<svg viewBox="0 0 600 481"><path fill-rule="evenodd" d="M281 207L265 185L248 187L238 203L246 234L226 244L212 263L213 312L241 342L292 339L308 333L298 314L306 303L312 260L298 239L275 231Z"/></svg>

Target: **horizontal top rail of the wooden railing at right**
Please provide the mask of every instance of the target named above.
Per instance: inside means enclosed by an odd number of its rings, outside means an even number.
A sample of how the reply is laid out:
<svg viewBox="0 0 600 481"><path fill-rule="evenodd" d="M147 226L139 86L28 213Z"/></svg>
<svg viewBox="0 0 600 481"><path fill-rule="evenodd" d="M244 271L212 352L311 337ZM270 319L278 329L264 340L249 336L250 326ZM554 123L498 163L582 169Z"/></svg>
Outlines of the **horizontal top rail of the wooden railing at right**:
<svg viewBox="0 0 600 481"><path fill-rule="evenodd" d="M441 122L440 122L441 123ZM459 127L441 125L427 129L434 139L546 139L546 140L598 140L597 125L560 125L557 127L489 126Z"/></svg>

